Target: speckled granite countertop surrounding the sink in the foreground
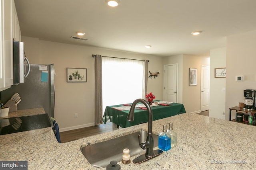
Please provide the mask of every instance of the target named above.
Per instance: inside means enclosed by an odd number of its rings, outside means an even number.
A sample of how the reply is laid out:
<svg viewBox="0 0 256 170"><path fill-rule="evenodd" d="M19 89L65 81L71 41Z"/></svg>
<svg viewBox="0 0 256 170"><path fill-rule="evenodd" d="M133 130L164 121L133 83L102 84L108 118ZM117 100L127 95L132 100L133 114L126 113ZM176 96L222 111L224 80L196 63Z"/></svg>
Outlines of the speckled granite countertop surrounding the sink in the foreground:
<svg viewBox="0 0 256 170"><path fill-rule="evenodd" d="M154 121L153 133L160 133L160 124L166 122L174 124L178 145L142 164L124 165L118 162L122 170L236 170L256 167L255 126L183 113ZM80 147L147 130L147 126L148 123L143 123L68 143L58 143L50 127L1 135L0 160L28 161L29 170L96 170L98 168L91 166ZM132 156L131 160L138 155Z"/></svg>

